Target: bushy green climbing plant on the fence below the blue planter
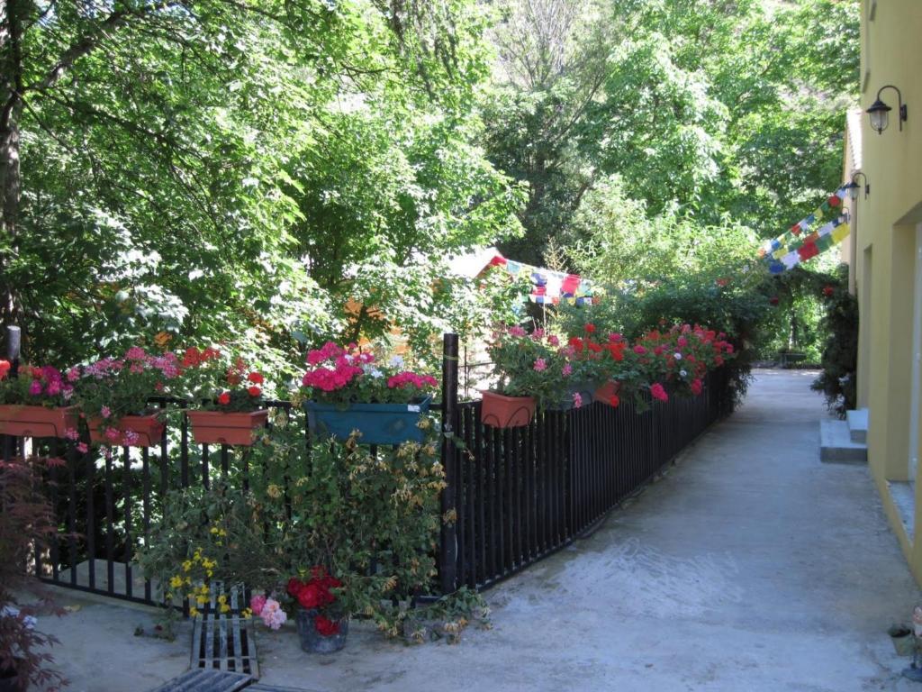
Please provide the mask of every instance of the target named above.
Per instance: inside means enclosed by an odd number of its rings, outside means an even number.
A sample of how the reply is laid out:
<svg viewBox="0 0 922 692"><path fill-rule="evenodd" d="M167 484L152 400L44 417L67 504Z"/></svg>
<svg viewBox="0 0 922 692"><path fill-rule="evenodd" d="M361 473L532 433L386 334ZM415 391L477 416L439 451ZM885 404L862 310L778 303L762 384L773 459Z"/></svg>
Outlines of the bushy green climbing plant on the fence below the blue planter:
<svg viewBox="0 0 922 692"><path fill-rule="evenodd" d="M347 614L399 636L407 612L395 603L428 590L442 525L443 469L434 427L429 419L422 424L433 433L425 444L372 455L354 439L307 447L303 414L278 412L244 452L249 490L238 462L228 483L171 495L141 552L145 573L162 583L178 577L177 591L223 579L284 599L288 579L321 565L342 580L338 599ZM191 583L183 582L187 575Z"/></svg>

